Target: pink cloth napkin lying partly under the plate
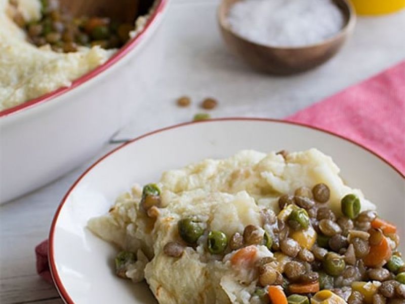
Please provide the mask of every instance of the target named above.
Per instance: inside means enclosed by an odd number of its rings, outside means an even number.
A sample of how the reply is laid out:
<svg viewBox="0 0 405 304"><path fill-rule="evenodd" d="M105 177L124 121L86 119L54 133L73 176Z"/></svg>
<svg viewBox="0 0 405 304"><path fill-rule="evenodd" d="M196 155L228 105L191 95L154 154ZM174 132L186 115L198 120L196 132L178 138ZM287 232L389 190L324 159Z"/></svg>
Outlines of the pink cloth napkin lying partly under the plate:
<svg viewBox="0 0 405 304"><path fill-rule="evenodd" d="M405 174L405 61L287 120L356 141ZM52 283L48 240L36 246L35 254L37 273Z"/></svg>

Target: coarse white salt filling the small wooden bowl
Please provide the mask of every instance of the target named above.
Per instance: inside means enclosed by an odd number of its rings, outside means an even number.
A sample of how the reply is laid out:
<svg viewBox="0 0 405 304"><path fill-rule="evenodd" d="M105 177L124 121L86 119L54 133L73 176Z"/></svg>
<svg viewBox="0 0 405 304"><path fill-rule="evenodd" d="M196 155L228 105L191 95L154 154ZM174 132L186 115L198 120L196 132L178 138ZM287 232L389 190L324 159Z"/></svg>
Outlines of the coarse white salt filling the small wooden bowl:
<svg viewBox="0 0 405 304"><path fill-rule="evenodd" d="M337 34L344 16L332 0L241 0L229 11L230 28L252 42L300 47Z"/></svg>

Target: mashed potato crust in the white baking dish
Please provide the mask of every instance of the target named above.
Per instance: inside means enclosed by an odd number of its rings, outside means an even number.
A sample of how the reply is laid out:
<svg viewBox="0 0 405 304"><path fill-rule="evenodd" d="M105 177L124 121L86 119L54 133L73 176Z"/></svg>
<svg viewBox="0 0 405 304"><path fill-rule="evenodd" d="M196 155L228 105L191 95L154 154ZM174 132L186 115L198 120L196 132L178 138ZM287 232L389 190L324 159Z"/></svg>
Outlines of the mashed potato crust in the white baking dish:
<svg viewBox="0 0 405 304"><path fill-rule="evenodd" d="M60 53L50 44L36 47L28 42L27 33L13 21L13 16L22 16L26 24L38 22L44 17L41 1L14 0L12 3L0 0L0 111L69 87L72 81L105 63L117 51L116 48L77 46L77 51ZM137 17L128 39L144 29L156 5L154 2L146 15Z"/></svg>

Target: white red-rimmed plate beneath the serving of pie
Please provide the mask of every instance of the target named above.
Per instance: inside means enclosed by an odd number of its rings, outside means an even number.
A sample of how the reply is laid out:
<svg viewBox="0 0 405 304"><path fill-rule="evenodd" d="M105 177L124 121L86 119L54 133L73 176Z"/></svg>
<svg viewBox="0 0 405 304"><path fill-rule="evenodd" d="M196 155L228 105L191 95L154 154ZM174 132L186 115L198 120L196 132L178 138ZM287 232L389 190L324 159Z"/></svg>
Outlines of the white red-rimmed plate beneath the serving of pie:
<svg viewBox="0 0 405 304"><path fill-rule="evenodd" d="M52 223L52 276L66 303L156 303L146 283L113 273L117 249L86 229L135 182L157 181L169 169L242 149L263 152L316 147L332 156L345 182L360 188L379 214L405 236L405 177L386 161L343 137L300 124L268 119L218 119L158 130L126 143L91 166L70 188ZM401 244L401 251L405 248Z"/></svg>

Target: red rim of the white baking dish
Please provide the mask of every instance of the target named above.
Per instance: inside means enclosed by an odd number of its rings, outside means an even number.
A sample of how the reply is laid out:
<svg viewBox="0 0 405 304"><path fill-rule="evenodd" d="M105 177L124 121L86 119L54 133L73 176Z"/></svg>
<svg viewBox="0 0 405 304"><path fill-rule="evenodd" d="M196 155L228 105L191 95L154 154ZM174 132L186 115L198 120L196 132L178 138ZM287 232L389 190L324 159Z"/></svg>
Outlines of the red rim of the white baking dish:
<svg viewBox="0 0 405 304"><path fill-rule="evenodd" d="M158 1L159 1L159 4L157 5L153 14L150 16L149 20L146 22L146 25L142 29L142 31L140 33L138 33L133 39L131 39L124 47L120 48L105 63L103 63L102 65L89 71L88 73L82 75L78 79L74 80L69 87L61 87L61 88L56 89L52 92L49 92L45 95L39 96L34 99L30 99L19 105L5 109L3 111L0 111L0 118L7 117L14 113L20 112L24 109L31 108L32 106L34 106L36 104L41 104L41 103L45 103L46 101L53 100L55 97L62 95L70 90L73 90L74 88L84 84L88 80L96 77L98 74L100 74L101 72L103 72L104 70L109 68L110 66L114 65L116 62L118 62L121 58L123 58L125 55L127 55L131 50L133 50L141 42L145 32L157 20L157 16L160 15L161 12L163 12L165 7L167 6L168 0L158 0Z"/></svg>

